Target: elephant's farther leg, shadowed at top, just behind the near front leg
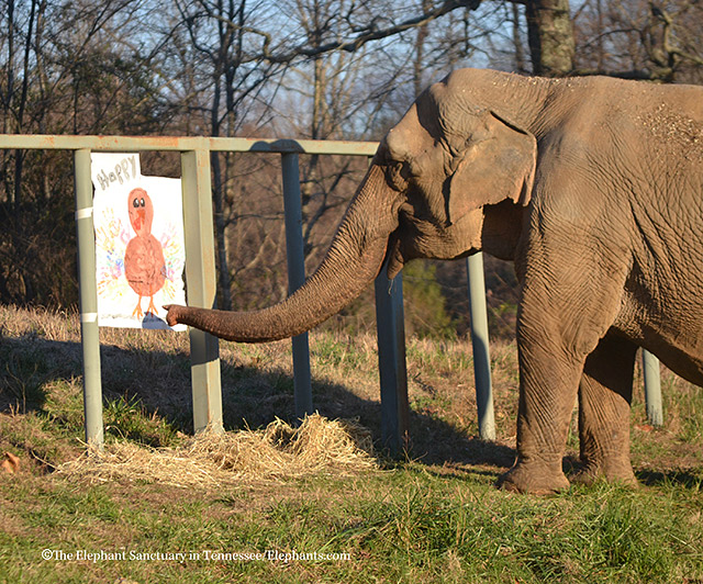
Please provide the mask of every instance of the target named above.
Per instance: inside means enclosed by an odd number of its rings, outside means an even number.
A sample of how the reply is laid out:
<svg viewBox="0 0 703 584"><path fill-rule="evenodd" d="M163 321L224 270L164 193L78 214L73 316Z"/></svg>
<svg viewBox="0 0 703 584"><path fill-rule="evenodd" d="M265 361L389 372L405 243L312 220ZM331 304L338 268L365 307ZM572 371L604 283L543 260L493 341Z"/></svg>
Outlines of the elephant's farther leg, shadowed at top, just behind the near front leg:
<svg viewBox="0 0 703 584"><path fill-rule="evenodd" d="M629 406L637 346L607 334L589 355L579 385L582 471L572 482L636 484L629 461Z"/></svg>

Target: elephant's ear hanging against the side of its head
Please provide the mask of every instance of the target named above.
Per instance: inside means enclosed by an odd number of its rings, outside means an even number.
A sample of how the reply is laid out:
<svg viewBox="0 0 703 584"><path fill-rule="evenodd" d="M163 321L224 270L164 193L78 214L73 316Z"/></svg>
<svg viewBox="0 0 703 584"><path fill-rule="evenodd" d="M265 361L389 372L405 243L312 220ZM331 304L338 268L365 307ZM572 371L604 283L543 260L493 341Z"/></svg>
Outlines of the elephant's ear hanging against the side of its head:
<svg viewBox="0 0 703 584"><path fill-rule="evenodd" d="M482 128L459 153L449 179L448 223L483 205L511 200L527 206L537 165L535 137L499 117L482 114Z"/></svg>

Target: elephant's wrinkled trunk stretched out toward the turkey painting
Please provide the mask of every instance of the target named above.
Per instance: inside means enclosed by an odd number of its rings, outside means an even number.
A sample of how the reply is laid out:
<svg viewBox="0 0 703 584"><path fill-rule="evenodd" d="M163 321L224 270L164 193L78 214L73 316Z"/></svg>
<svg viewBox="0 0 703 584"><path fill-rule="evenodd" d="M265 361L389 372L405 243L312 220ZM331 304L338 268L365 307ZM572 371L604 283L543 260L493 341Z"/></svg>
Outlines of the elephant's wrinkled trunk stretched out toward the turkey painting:
<svg viewBox="0 0 703 584"><path fill-rule="evenodd" d="M166 306L169 325L182 323L238 342L300 335L336 314L378 276L398 226L397 198L376 164L354 196L322 263L288 299L268 308L228 312Z"/></svg>

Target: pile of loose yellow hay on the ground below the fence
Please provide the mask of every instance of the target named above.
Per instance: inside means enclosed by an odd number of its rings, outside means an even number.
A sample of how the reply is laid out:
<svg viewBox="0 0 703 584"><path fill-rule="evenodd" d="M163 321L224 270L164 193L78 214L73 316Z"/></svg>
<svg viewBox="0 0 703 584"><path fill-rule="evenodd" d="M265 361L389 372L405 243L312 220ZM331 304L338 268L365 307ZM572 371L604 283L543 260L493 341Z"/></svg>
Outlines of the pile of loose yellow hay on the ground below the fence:
<svg viewBox="0 0 703 584"><path fill-rule="evenodd" d="M352 474L375 468L368 429L357 422L313 414L297 428L276 419L261 430L204 431L179 448L110 443L103 450L89 449L58 472L90 481L194 487Z"/></svg>

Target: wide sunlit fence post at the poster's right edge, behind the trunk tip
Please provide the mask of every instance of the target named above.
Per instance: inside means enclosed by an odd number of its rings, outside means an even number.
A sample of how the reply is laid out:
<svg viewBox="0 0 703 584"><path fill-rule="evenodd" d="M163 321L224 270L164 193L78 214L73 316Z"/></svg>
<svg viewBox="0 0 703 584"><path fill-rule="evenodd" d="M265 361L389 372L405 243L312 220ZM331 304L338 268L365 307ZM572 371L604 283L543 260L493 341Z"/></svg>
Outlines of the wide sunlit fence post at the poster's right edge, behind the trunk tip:
<svg viewBox="0 0 703 584"><path fill-rule="evenodd" d="M212 227L210 151L181 153L186 281L188 304L212 308L215 304L215 254ZM193 429L222 431L222 389L217 338L190 328L190 363L193 395Z"/></svg>

